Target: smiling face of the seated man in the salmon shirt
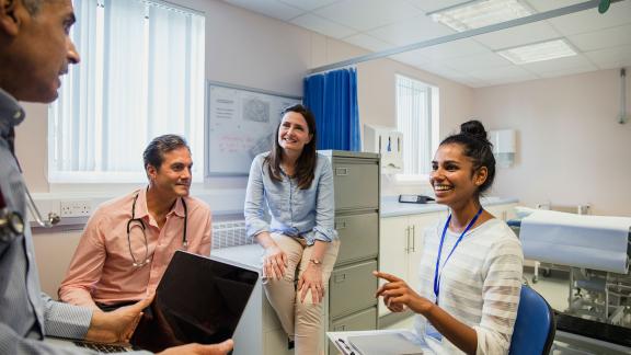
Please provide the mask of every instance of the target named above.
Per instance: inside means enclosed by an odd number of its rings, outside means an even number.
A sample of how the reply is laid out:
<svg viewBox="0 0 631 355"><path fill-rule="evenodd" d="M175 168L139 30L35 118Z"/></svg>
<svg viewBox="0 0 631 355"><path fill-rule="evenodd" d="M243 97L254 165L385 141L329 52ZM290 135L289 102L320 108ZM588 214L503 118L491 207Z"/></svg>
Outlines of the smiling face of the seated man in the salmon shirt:
<svg viewBox="0 0 631 355"><path fill-rule="evenodd" d="M147 174L152 187L156 187L160 196L176 198L188 196L192 182L193 160L191 151L181 147L162 154L160 169L147 165Z"/></svg>

